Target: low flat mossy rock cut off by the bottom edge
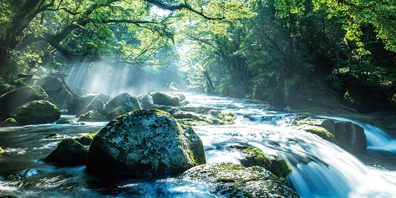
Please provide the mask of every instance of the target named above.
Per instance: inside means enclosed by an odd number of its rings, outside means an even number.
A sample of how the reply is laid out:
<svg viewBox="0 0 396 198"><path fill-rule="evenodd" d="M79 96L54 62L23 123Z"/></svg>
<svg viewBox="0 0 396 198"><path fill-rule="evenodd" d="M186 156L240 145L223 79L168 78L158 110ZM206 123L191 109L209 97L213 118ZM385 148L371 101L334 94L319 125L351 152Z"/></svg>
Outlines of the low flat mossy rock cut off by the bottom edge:
<svg viewBox="0 0 396 198"><path fill-rule="evenodd" d="M245 168L231 163L203 164L193 167L181 179L213 185L211 192L226 198L299 198L268 170L260 166Z"/></svg>

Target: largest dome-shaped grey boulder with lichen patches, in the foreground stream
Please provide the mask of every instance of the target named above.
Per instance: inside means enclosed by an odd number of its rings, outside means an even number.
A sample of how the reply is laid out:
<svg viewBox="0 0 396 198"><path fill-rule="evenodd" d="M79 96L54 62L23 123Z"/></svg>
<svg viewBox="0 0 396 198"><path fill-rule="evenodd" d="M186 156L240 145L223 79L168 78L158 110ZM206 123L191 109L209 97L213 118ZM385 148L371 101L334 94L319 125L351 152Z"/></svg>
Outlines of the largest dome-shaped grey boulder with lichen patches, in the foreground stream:
<svg viewBox="0 0 396 198"><path fill-rule="evenodd" d="M205 163L194 130L168 113L136 110L110 121L95 136L87 172L105 177L137 177L183 172Z"/></svg>

